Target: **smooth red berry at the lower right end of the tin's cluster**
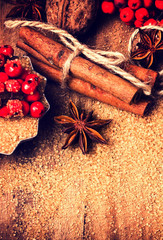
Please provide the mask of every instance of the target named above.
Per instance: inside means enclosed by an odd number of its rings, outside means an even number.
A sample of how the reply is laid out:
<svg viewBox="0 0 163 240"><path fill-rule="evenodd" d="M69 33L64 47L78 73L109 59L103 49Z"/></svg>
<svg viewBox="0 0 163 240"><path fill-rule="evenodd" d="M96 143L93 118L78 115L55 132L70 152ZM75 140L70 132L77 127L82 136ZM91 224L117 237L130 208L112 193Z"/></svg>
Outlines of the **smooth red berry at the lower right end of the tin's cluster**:
<svg viewBox="0 0 163 240"><path fill-rule="evenodd" d="M30 114L32 117L40 118L45 113L45 107L41 102L33 102L30 106Z"/></svg>

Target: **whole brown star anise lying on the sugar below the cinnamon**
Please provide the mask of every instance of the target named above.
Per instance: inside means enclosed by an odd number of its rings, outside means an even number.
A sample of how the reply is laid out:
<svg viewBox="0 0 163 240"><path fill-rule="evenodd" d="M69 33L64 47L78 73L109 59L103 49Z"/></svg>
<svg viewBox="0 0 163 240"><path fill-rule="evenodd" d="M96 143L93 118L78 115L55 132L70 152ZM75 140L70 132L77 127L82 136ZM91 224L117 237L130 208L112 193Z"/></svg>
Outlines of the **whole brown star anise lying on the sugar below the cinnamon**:
<svg viewBox="0 0 163 240"><path fill-rule="evenodd" d="M83 154L85 154L88 150L88 138L90 138L93 141L106 144L107 141L94 128L109 124L111 122L111 119L108 120L99 119L90 121L93 111L89 112L84 117L84 112L79 114L77 107L72 101L70 101L69 106L72 118L65 115L61 115L54 118L54 120L57 123L60 123L64 127L66 127L64 133L69 134L62 149L66 149L76 139L78 139L79 141L79 146Z"/></svg>

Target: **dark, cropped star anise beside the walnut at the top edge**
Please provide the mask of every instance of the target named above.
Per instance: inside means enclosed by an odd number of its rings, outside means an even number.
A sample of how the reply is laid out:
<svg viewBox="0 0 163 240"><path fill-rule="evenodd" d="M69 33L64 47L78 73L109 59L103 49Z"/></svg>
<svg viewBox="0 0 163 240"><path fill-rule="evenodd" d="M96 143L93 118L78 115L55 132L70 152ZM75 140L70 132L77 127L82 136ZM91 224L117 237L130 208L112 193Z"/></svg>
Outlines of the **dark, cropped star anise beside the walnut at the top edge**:
<svg viewBox="0 0 163 240"><path fill-rule="evenodd" d="M36 21L45 21L45 0L14 0L14 4L6 18L20 18Z"/></svg>

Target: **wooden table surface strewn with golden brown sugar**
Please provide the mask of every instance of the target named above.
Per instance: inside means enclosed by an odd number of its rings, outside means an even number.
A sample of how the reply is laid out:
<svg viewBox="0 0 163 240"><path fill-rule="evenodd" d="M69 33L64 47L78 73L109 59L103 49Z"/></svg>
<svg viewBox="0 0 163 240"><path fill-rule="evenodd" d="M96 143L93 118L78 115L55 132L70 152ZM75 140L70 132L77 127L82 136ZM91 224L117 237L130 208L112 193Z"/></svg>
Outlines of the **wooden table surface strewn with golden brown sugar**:
<svg viewBox="0 0 163 240"><path fill-rule="evenodd" d="M21 56L18 29L3 25L12 6L0 4L0 44ZM127 56L132 32L118 16L100 16L82 40ZM142 118L49 81L45 94L51 108L37 137L0 155L0 239L161 240L162 100ZM93 144L87 155L77 145L61 149L66 136L53 118L69 114L70 99L96 118L113 119L101 132L108 145Z"/></svg>

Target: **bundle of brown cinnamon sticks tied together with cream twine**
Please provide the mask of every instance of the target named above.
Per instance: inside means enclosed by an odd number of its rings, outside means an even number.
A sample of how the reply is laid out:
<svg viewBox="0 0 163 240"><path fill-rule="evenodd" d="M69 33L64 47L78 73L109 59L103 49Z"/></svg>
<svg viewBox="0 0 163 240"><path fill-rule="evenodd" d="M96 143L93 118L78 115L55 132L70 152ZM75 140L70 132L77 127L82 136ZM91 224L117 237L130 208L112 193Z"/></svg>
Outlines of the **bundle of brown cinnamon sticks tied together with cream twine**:
<svg viewBox="0 0 163 240"><path fill-rule="evenodd" d="M19 36L23 41L18 41L17 47L29 54L34 68L48 79L61 84L62 68L72 51L29 27L22 27ZM150 80L152 87L158 75L153 70L131 64L126 64L125 70L143 82ZM71 62L67 86L88 97L141 116L146 114L151 105L150 101L142 100L142 89L81 56Z"/></svg>

